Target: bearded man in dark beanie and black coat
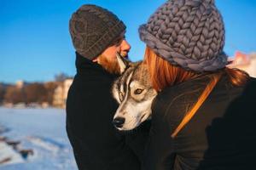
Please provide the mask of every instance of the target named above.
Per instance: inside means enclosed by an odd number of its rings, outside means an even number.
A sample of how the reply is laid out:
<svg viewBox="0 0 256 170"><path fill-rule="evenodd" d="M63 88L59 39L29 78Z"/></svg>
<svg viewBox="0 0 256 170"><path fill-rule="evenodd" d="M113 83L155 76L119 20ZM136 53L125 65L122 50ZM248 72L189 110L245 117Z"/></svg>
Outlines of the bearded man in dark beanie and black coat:
<svg viewBox="0 0 256 170"><path fill-rule="evenodd" d="M96 5L83 5L70 20L77 74L67 96L67 135L79 169L137 170L147 128L125 135L113 127L118 107L110 91L126 56L125 25Z"/></svg>

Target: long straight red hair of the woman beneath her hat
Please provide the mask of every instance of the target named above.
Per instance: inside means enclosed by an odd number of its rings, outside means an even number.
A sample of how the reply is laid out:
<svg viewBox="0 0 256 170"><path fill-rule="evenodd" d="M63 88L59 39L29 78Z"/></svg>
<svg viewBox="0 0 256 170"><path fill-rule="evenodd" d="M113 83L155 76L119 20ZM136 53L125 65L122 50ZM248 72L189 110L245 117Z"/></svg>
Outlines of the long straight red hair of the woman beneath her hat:
<svg viewBox="0 0 256 170"><path fill-rule="evenodd" d="M195 71L186 71L182 67L172 65L165 59L162 59L159 55L155 54L154 51L148 47L145 50L143 62L148 65L148 71L153 88L158 92L168 86L185 82L189 79L200 76L200 73L196 73ZM210 74L211 81L207 84L207 87L195 102L195 105L193 105L190 111L185 114L183 121L175 129L174 133L172 133L172 137L175 137L186 123L188 123L195 115L195 112L207 99L207 96L212 92L212 89L215 87L224 72L227 73L231 84L234 86L242 86L247 82L247 73L238 69L225 68L224 71L216 71L215 73Z"/></svg>

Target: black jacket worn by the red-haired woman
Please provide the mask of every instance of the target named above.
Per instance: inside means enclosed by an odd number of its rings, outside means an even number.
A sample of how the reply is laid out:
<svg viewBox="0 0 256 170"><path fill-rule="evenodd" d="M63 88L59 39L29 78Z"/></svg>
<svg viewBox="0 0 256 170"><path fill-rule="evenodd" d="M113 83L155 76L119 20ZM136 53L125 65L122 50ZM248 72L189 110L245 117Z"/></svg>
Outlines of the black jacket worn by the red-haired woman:
<svg viewBox="0 0 256 170"><path fill-rule="evenodd" d="M256 169L256 79L232 87L224 75L195 116L172 139L207 86L203 76L164 89L153 104L144 170Z"/></svg>

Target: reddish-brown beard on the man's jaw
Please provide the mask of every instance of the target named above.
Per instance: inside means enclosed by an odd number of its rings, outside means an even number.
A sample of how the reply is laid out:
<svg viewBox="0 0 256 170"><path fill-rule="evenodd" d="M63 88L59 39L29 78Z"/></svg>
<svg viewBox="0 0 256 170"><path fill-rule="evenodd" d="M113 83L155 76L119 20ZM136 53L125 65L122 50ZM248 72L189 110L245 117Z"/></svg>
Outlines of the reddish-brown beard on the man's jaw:
<svg viewBox="0 0 256 170"><path fill-rule="evenodd" d="M110 60L104 55L100 55L97 59L98 64L111 74L120 74L120 67L117 59Z"/></svg>

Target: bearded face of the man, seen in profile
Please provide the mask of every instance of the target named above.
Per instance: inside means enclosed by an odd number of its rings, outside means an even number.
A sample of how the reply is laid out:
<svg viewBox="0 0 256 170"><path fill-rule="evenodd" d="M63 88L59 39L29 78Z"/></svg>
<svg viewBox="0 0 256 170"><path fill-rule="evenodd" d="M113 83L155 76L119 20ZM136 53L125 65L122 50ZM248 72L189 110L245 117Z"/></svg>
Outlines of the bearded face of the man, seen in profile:
<svg viewBox="0 0 256 170"><path fill-rule="evenodd" d="M106 48L102 54L94 59L98 64L102 65L108 72L119 74L119 64L116 59L116 54L119 53L121 56L126 57L131 46L125 40L125 33L122 34L113 45Z"/></svg>

